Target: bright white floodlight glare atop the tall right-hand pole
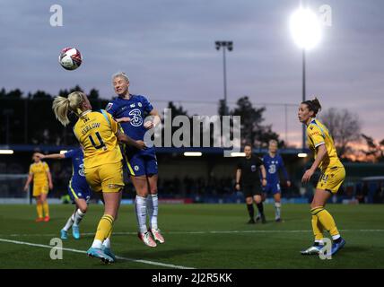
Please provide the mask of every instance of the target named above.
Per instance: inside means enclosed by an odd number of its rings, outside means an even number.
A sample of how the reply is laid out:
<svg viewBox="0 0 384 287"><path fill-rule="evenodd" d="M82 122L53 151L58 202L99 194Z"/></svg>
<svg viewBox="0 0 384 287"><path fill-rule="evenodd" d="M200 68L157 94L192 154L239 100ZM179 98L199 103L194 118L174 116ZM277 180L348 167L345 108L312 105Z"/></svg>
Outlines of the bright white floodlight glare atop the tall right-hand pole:
<svg viewBox="0 0 384 287"><path fill-rule="evenodd" d="M309 8L300 7L292 13L290 30L293 41L302 49L315 48L321 39L319 18Z"/></svg>

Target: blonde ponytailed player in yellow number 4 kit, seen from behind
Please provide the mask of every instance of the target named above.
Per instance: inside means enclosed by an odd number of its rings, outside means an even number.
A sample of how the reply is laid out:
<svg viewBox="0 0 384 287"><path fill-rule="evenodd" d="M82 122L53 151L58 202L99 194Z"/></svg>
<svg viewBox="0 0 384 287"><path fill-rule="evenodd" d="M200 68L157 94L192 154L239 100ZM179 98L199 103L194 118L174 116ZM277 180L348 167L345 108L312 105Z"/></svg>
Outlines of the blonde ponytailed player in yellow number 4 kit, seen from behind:
<svg viewBox="0 0 384 287"><path fill-rule="evenodd" d="M105 110L92 111L91 103L82 91L74 91L68 98L56 97L52 109L64 126L69 124L68 112L79 117L74 125L74 135L83 146L85 178L93 191L102 193L104 201L104 215L87 255L100 258L105 263L114 262L110 235L124 187L123 158L118 141L140 150L144 149L144 142L134 141L122 133L118 123Z"/></svg>

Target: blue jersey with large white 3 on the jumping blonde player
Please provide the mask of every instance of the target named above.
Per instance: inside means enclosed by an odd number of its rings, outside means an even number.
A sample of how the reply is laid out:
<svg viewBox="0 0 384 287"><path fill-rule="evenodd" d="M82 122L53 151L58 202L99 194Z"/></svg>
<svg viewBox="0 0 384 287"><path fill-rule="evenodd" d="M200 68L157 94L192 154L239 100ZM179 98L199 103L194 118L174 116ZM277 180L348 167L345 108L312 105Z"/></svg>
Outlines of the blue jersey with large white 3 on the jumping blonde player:
<svg viewBox="0 0 384 287"><path fill-rule="evenodd" d="M144 127L144 118L153 110L153 105L142 95L131 95L129 100L116 98L109 102L106 110L114 118L129 117L131 120L128 123L120 123L124 133L134 140L144 140L144 135L147 129ZM128 147L128 150L135 148ZM143 154L153 153L154 149L147 148L143 151L135 150Z"/></svg>

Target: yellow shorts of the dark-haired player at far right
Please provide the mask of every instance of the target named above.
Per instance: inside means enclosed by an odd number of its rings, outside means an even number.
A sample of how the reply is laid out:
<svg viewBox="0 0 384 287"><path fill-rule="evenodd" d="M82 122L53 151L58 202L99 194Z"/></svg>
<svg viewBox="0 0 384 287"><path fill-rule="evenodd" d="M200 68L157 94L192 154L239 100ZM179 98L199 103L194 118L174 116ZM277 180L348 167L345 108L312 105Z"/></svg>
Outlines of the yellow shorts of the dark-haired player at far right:
<svg viewBox="0 0 384 287"><path fill-rule="evenodd" d="M328 168L321 173L316 188L323 189L336 194L345 179L345 168L343 166Z"/></svg>

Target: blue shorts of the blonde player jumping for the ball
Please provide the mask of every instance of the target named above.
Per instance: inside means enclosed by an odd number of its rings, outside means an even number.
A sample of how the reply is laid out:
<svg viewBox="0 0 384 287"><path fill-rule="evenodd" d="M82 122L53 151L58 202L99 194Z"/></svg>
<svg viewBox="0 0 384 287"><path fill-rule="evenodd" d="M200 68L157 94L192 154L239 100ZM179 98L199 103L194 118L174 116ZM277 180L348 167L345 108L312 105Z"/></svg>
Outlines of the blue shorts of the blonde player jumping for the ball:
<svg viewBox="0 0 384 287"><path fill-rule="evenodd" d="M157 174L156 155L135 153L127 157L127 171L134 177Z"/></svg>

